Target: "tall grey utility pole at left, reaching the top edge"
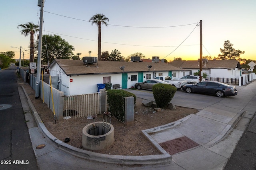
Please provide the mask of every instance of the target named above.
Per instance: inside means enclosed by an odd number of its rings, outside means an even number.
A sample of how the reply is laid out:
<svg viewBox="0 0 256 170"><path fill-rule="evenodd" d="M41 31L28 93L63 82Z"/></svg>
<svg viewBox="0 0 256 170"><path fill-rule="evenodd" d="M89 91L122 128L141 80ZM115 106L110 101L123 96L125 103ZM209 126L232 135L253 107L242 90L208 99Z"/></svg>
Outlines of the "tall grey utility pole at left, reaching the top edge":
<svg viewBox="0 0 256 170"><path fill-rule="evenodd" d="M37 72L36 72L36 99L39 98L40 81L41 81L41 57L42 57L42 27L43 27L43 12L44 0L38 0L37 6L40 6L40 25L39 25L39 40L38 40L38 57L37 57Z"/></svg>

